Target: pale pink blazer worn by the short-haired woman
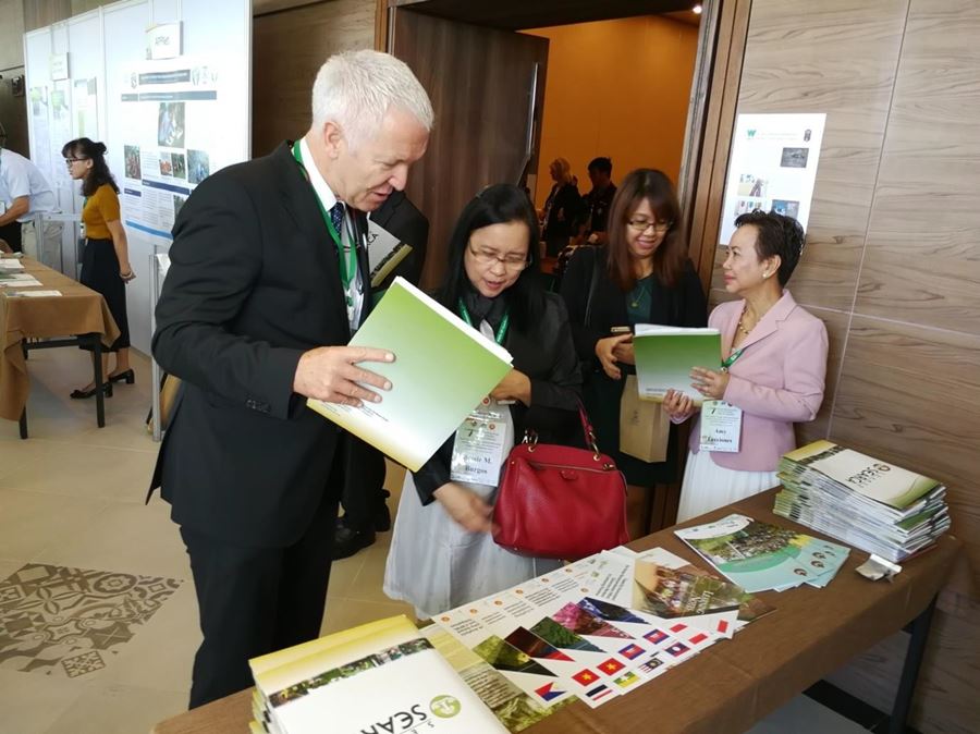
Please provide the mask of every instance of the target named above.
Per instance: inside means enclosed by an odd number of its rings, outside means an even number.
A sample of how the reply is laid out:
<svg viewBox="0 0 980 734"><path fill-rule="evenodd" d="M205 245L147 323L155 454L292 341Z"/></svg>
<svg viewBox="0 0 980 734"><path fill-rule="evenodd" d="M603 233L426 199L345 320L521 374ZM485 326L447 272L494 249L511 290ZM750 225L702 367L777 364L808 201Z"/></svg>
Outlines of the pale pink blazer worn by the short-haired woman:
<svg viewBox="0 0 980 734"><path fill-rule="evenodd" d="M722 354L732 352L745 301L719 304L708 326L721 331ZM774 472L780 457L796 448L793 424L812 420L823 402L826 328L797 306L789 291L769 309L742 343L742 356L728 368L724 400L740 407L738 453L712 451L719 466L745 472ZM698 452L700 413L690 432Z"/></svg>

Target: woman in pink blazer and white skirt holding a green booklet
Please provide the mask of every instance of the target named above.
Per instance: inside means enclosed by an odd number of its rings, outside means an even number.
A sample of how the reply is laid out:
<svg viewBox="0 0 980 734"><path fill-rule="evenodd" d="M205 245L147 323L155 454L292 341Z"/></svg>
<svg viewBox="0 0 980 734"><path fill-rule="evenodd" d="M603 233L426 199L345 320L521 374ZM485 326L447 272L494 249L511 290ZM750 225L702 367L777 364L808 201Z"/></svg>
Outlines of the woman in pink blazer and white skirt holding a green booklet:
<svg viewBox="0 0 980 734"><path fill-rule="evenodd" d="M675 423L698 413L678 522L779 485L780 457L796 445L793 424L812 420L823 402L826 329L784 290L803 250L803 228L762 211L742 215L735 227L722 268L725 290L740 299L719 304L708 319L721 332L726 366L695 367L690 377L705 401L740 411L730 411L740 436L726 451L708 450L716 445L710 440L701 450L700 408L682 393L666 394L664 408ZM706 411L712 407L724 406L706 402Z"/></svg>

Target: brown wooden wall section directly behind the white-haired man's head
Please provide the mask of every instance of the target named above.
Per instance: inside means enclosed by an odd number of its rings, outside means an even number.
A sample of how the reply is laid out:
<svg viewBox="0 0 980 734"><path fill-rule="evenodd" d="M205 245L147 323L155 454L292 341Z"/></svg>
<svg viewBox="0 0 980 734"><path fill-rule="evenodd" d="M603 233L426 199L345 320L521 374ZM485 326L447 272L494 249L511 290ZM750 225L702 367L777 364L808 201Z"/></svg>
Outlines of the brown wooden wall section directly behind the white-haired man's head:
<svg viewBox="0 0 980 734"><path fill-rule="evenodd" d="M375 46L375 0L332 0L253 22L252 155L303 136L310 93L332 53Z"/></svg>

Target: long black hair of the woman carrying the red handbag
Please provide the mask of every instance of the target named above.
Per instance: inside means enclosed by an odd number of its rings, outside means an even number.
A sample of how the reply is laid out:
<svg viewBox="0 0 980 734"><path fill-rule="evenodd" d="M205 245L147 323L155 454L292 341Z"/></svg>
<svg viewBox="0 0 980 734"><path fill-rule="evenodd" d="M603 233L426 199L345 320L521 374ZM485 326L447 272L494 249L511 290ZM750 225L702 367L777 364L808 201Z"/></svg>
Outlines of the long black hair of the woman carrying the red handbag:
<svg viewBox="0 0 980 734"><path fill-rule="evenodd" d="M463 267L470 235L485 227L510 222L524 222L527 225L528 266L506 290L511 322L515 328L526 330L540 319L544 310L544 290L538 273L540 232L535 208L527 194L511 184L487 186L463 208L450 236L449 269L439 290L439 302L456 313L460 298L467 290L473 289Z"/></svg>

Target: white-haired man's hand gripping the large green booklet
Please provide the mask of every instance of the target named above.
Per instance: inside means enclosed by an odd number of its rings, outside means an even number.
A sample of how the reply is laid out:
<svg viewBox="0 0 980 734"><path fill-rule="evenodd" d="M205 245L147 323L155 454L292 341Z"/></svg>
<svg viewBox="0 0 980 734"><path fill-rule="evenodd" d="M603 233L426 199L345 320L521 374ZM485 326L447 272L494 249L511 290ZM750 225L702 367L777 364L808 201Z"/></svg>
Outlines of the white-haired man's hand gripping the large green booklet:
<svg viewBox="0 0 980 734"><path fill-rule="evenodd" d="M394 362L394 355L368 346L319 346L299 357L293 391L324 403L354 407L360 407L364 401L380 403L381 395L358 382L381 390L391 390L391 382L358 367L362 362Z"/></svg>

